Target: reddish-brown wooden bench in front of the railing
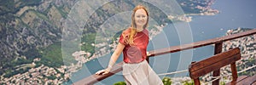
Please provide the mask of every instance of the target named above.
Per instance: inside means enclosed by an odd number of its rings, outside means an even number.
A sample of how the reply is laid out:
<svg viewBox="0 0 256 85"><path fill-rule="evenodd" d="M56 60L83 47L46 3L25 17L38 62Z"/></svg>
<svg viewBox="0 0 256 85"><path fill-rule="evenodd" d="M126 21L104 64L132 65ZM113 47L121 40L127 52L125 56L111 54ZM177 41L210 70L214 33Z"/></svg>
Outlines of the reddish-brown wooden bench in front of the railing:
<svg viewBox="0 0 256 85"><path fill-rule="evenodd" d="M189 65L189 76L194 80L195 85L200 85L199 77L211 71L219 70L225 65L230 65L232 71L232 82L237 80L236 61L241 59L240 48L233 48L224 53L213 55L208 59L193 62Z"/></svg>

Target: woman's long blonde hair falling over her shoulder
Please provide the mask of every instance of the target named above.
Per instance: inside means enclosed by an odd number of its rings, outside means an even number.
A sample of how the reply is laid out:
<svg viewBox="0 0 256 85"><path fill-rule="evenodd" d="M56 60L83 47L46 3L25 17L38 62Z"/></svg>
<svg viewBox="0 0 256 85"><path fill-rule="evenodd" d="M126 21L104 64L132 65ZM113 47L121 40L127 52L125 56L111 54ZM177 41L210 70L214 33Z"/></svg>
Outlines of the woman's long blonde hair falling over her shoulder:
<svg viewBox="0 0 256 85"><path fill-rule="evenodd" d="M137 5L135 8L133 8L132 14L131 14L131 27L127 28L125 31L123 31L122 36L124 37L125 43L130 44L130 45L135 45L133 42L134 36L137 33L136 31L136 23L135 23L135 12L138 9L143 8L146 11L146 14L148 16L148 9L144 7L143 5ZM147 17L147 22L143 26L143 29L145 29L148 26L148 17ZM128 37L126 37L128 36Z"/></svg>

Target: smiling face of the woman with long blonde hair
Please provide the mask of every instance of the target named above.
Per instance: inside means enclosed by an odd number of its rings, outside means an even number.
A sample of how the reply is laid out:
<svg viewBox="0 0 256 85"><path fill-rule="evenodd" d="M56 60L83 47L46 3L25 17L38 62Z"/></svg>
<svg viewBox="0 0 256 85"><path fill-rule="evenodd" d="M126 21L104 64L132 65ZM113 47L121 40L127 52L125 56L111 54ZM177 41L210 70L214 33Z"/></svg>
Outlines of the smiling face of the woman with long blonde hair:
<svg viewBox="0 0 256 85"><path fill-rule="evenodd" d="M147 12L143 9L137 9L134 14L134 20L137 27L143 27L147 23L148 15Z"/></svg>

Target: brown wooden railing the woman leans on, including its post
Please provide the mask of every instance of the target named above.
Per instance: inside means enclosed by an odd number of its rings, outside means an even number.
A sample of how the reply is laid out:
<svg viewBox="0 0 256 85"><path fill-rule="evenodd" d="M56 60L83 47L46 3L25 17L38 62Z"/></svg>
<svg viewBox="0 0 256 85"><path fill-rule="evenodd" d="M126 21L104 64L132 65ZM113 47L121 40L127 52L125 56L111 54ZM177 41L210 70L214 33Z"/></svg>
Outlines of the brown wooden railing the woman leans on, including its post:
<svg viewBox="0 0 256 85"><path fill-rule="evenodd" d="M250 36L256 34L256 29L253 30L249 30L249 31L244 31L241 33L237 33L237 34L233 34L233 35L229 35L229 36L224 36L224 37L216 37L216 38L212 38L209 40L205 40L205 41L200 41L200 42L192 42L189 44L183 44L180 46L173 46L170 48L161 48L161 49L156 49L156 50L152 50L149 51L149 54L151 54L150 56L148 56L148 58L150 57L154 57L157 55L161 55L161 54L170 54L170 53L175 53L175 52L179 52L182 50L186 50L186 49L191 49L191 48L200 48L200 47L204 47L207 45L211 45L214 44L215 48L214 48L214 54L219 54L222 52L222 45L223 42L229 41L229 40L233 40L239 37L246 37L246 36ZM119 63L117 65L113 66L113 69L110 71L110 73L108 73L107 75L91 75L90 77L86 77L82 80L80 80L79 82L75 82L73 83L74 85L91 85L93 83L102 81L103 79L113 76L113 74L122 71L122 63ZM216 70L213 71L212 76L213 77L218 77L220 75L220 70ZM212 85L218 85L219 80L212 82Z"/></svg>

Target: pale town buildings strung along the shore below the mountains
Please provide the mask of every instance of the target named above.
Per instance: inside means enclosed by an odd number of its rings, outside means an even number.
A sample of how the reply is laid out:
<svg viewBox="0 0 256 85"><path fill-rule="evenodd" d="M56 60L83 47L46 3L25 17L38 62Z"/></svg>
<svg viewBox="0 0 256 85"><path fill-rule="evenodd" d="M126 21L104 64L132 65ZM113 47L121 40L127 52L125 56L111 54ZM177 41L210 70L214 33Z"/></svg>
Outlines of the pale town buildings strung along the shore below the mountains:
<svg viewBox="0 0 256 85"><path fill-rule="evenodd" d="M209 5L211 5L212 3L210 3ZM203 8L203 9L210 9L210 8ZM210 12L211 13L211 12ZM213 12L214 13L214 12ZM215 12L218 13L218 12ZM170 20L180 20L180 21L186 21L186 22L190 22L192 21L192 17L190 17L191 15L214 15L214 14L207 14L207 13L201 13L201 14L185 14L182 16L174 16L174 18L172 18L173 16L170 15L169 19ZM189 16L189 17L188 17ZM165 27L164 25L162 26L154 26L154 28L156 29L151 29L149 31L150 34L150 39L153 38L155 35L158 35L160 33L160 31L163 30L163 27ZM100 58L103 55L109 54L111 51L113 51L113 49L115 49L114 47L116 47L117 42L118 42L119 38L116 39L116 41L113 42L113 44L110 44L109 47L112 47L111 50L104 50L100 49L98 52L96 52L96 54L92 54L92 56L89 58L89 56L91 55L90 53L86 53L84 51L78 51L77 53L79 54L75 54L73 53L73 57L74 59L76 59L78 62L76 64L72 64L72 65L61 65L60 68L52 68L52 67L48 67L45 65L40 65L36 68L31 68L29 71L22 73L22 74L17 74L13 77L1 77L1 82L6 82L7 84L11 84L11 83L17 83L17 84L24 84L24 83L38 83L38 84L42 84L42 83L53 83L53 84L61 84L63 82L67 82L68 80L70 80L70 77L72 76L72 74L76 71L79 71L82 66L92 60L92 59L96 59L96 58ZM106 43L99 43L96 45L102 45L102 47L108 45ZM40 60L40 59L38 59ZM34 63L34 62L33 62ZM43 70L41 70L43 69ZM44 77L48 77L48 78L44 78ZM49 79L51 78L51 79Z"/></svg>

